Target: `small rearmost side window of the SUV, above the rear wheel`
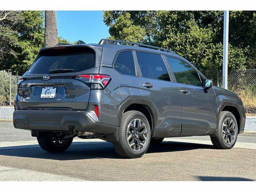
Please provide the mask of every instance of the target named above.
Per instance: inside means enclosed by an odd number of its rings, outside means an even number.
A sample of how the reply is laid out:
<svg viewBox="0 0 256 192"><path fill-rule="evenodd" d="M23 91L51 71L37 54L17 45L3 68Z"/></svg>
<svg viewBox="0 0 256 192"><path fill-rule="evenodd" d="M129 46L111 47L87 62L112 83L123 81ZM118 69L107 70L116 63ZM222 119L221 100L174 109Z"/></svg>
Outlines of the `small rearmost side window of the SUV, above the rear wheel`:
<svg viewBox="0 0 256 192"><path fill-rule="evenodd" d="M114 68L122 74L135 76L135 66L132 51L122 51L118 54Z"/></svg>

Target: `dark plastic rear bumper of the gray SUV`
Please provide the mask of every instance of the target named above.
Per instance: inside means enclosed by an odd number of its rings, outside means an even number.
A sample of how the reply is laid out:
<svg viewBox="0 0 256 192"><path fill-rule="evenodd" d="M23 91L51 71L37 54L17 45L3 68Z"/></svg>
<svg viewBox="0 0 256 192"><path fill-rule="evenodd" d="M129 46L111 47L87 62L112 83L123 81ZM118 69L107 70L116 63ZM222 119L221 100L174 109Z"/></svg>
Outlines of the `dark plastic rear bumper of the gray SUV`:
<svg viewBox="0 0 256 192"><path fill-rule="evenodd" d="M13 113L13 125L17 129L46 131L81 131L114 134L116 126L96 122L84 111L17 110Z"/></svg>

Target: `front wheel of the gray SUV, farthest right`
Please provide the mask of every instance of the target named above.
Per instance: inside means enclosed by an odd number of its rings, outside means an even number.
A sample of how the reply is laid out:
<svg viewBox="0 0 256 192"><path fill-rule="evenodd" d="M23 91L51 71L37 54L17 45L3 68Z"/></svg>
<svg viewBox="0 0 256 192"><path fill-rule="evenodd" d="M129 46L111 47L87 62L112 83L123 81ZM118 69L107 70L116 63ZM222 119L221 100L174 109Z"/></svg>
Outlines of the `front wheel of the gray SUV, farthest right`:
<svg viewBox="0 0 256 192"><path fill-rule="evenodd" d="M212 144L218 149L231 149L238 136L238 125L235 116L229 111L220 112L216 136L210 136Z"/></svg>

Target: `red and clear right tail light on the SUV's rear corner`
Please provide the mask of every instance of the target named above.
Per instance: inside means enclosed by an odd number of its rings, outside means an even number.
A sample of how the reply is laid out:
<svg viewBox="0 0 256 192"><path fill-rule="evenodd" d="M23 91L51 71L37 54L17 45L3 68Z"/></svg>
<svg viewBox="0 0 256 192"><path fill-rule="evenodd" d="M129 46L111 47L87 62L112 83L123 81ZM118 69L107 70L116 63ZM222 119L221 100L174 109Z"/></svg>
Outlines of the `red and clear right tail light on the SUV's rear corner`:
<svg viewBox="0 0 256 192"><path fill-rule="evenodd" d="M77 79L91 84L91 89L104 89L111 80L109 75L84 74L76 76Z"/></svg>

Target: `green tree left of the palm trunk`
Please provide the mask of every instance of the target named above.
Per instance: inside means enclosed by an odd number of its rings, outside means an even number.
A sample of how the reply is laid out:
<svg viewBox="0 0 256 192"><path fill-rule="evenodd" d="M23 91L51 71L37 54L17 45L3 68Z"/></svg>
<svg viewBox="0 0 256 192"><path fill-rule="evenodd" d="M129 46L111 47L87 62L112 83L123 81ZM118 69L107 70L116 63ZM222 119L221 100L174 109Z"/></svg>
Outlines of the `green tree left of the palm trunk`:
<svg viewBox="0 0 256 192"><path fill-rule="evenodd" d="M22 75L44 46L43 13L13 11L8 16L0 20L0 70Z"/></svg>

